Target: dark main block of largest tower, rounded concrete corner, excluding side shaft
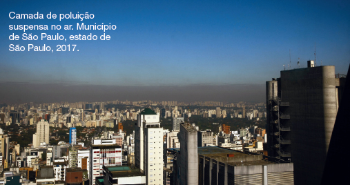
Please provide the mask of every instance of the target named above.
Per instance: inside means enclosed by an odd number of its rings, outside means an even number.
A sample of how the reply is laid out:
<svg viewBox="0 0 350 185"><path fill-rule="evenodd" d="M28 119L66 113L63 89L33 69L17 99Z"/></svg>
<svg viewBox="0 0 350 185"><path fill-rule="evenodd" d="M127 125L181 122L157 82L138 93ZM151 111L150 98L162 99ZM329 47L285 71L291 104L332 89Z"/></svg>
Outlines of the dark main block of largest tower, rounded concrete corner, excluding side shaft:
<svg viewBox="0 0 350 185"><path fill-rule="evenodd" d="M282 101L289 101L295 184L320 184L336 120L334 66L281 71Z"/></svg>

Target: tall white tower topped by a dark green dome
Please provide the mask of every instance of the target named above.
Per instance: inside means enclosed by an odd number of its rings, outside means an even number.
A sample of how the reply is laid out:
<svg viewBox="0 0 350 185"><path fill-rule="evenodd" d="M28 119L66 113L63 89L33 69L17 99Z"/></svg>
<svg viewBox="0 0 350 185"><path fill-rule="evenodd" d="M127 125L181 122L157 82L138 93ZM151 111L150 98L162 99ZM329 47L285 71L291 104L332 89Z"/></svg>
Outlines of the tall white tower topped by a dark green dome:
<svg viewBox="0 0 350 185"><path fill-rule="evenodd" d="M163 128L150 108L137 115L135 166L146 175L146 184L163 184Z"/></svg>

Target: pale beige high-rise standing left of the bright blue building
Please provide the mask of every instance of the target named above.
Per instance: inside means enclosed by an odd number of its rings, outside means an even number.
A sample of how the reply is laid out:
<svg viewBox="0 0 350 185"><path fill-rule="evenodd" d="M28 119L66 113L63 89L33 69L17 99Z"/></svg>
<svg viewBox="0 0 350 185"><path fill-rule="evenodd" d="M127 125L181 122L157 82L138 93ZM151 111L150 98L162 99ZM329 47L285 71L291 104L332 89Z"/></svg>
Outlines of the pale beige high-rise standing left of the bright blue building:
<svg viewBox="0 0 350 185"><path fill-rule="evenodd" d="M37 133L33 134L34 147L38 147L42 142L49 144L49 126L48 121L45 121L45 119L41 119L37 123Z"/></svg>

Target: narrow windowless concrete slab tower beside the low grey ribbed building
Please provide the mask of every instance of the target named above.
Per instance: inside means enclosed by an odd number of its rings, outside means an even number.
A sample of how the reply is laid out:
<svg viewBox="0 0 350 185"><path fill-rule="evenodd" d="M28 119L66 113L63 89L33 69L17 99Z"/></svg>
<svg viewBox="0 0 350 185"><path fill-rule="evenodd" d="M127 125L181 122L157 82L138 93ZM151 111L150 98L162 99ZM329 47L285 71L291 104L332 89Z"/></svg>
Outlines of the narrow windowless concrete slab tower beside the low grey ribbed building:
<svg viewBox="0 0 350 185"><path fill-rule="evenodd" d="M198 184L197 130L191 124L181 124L180 150L174 162L174 184ZM177 168L181 169L177 171ZM176 172L175 172L176 171Z"/></svg>

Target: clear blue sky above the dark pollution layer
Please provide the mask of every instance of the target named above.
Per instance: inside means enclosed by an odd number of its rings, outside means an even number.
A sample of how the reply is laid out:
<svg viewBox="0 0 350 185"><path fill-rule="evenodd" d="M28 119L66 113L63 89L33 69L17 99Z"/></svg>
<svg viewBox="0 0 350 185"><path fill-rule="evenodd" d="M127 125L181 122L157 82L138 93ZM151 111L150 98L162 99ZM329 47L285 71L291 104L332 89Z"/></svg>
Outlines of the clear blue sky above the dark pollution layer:
<svg viewBox="0 0 350 185"><path fill-rule="evenodd" d="M1 1L0 82L164 86L264 84L283 65L314 59L346 74L349 1ZM95 19L10 19L16 13L89 12ZM112 23L110 41L9 41L10 24ZM26 31L67 39L100 30ZM10 52L11 43L77 44L79 52Z"/></svg>

